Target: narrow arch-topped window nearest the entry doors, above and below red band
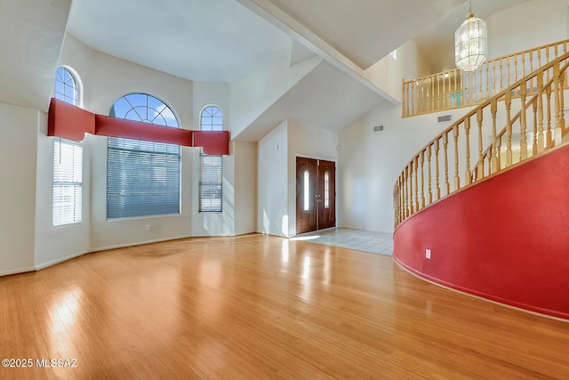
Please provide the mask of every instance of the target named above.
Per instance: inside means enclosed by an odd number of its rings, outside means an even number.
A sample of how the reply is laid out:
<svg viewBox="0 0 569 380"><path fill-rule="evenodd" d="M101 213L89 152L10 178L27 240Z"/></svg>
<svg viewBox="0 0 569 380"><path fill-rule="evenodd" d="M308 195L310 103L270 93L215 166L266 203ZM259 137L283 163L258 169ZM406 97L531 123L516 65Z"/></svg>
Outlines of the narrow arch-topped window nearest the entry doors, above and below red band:
<svg viewBox="0 0 569 380"><path fill-rule="evenodd" d="M207 106L200 114L202 131L223 130L223 113L217 106ZM199 211L201 213L220 213L223 181L222 156L210 156L200 150L199 153Z"/></svg>

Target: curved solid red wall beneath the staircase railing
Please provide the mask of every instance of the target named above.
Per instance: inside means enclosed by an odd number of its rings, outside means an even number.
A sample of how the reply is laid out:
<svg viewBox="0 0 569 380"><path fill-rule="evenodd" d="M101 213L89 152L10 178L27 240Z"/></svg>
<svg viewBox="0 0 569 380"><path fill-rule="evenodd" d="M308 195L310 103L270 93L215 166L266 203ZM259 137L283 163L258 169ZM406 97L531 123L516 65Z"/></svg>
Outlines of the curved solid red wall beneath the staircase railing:
<svg viewBox="0 0 569 380"><path fill-rule="evenodd" d="M394 258L446 287L569 319L568 182L565 146L414 214L395 231Z"/></svg>

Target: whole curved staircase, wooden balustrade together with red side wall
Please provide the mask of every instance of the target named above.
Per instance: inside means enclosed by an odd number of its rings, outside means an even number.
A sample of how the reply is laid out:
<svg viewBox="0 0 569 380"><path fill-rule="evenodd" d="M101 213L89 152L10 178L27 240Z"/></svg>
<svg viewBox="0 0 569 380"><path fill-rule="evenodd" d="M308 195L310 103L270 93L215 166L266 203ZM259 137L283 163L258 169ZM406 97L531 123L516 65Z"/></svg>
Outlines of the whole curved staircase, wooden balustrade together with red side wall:
<svg viewBox="0 0 569 380"><path fill-rule="evenodd" d="M445 287L569 319L569 53L480 102L394 189L394 258ZM565 141L564 141L565 140Z"/></svg>

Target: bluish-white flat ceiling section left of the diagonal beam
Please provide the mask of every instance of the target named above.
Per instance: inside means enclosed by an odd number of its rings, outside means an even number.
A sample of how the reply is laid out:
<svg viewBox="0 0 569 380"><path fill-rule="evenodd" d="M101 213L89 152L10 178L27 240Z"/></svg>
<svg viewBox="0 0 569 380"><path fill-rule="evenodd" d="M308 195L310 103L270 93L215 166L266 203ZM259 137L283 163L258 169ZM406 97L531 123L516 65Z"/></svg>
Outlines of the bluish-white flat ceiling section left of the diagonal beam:
<svg viewBox="0 0 569 380"><path fill-rule="evenodd" d="M235 0L74 0L68 32L95 50L200 82L230 82L290 50Z"/></svg>

